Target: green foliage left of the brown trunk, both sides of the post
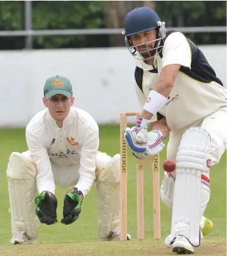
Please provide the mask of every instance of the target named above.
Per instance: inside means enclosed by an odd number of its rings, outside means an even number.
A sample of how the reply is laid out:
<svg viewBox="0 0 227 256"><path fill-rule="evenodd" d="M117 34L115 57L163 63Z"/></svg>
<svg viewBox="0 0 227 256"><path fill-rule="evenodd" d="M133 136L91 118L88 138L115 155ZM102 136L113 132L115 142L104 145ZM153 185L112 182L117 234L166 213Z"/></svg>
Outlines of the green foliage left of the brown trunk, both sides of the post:
<svg viewBox="0 0 227 256"><path fill-rule="evenodd" d="M33 29L91 29L105 27L105 1L32 1ZM24 1L0 1L0 29L24 29ZM103 40L104 38L104 40ZM15 40L16 39L16 40ZM37 36L33 47L106 46L107 36ZM24 48L24 37L4 37L0 49Z"/></svg>

